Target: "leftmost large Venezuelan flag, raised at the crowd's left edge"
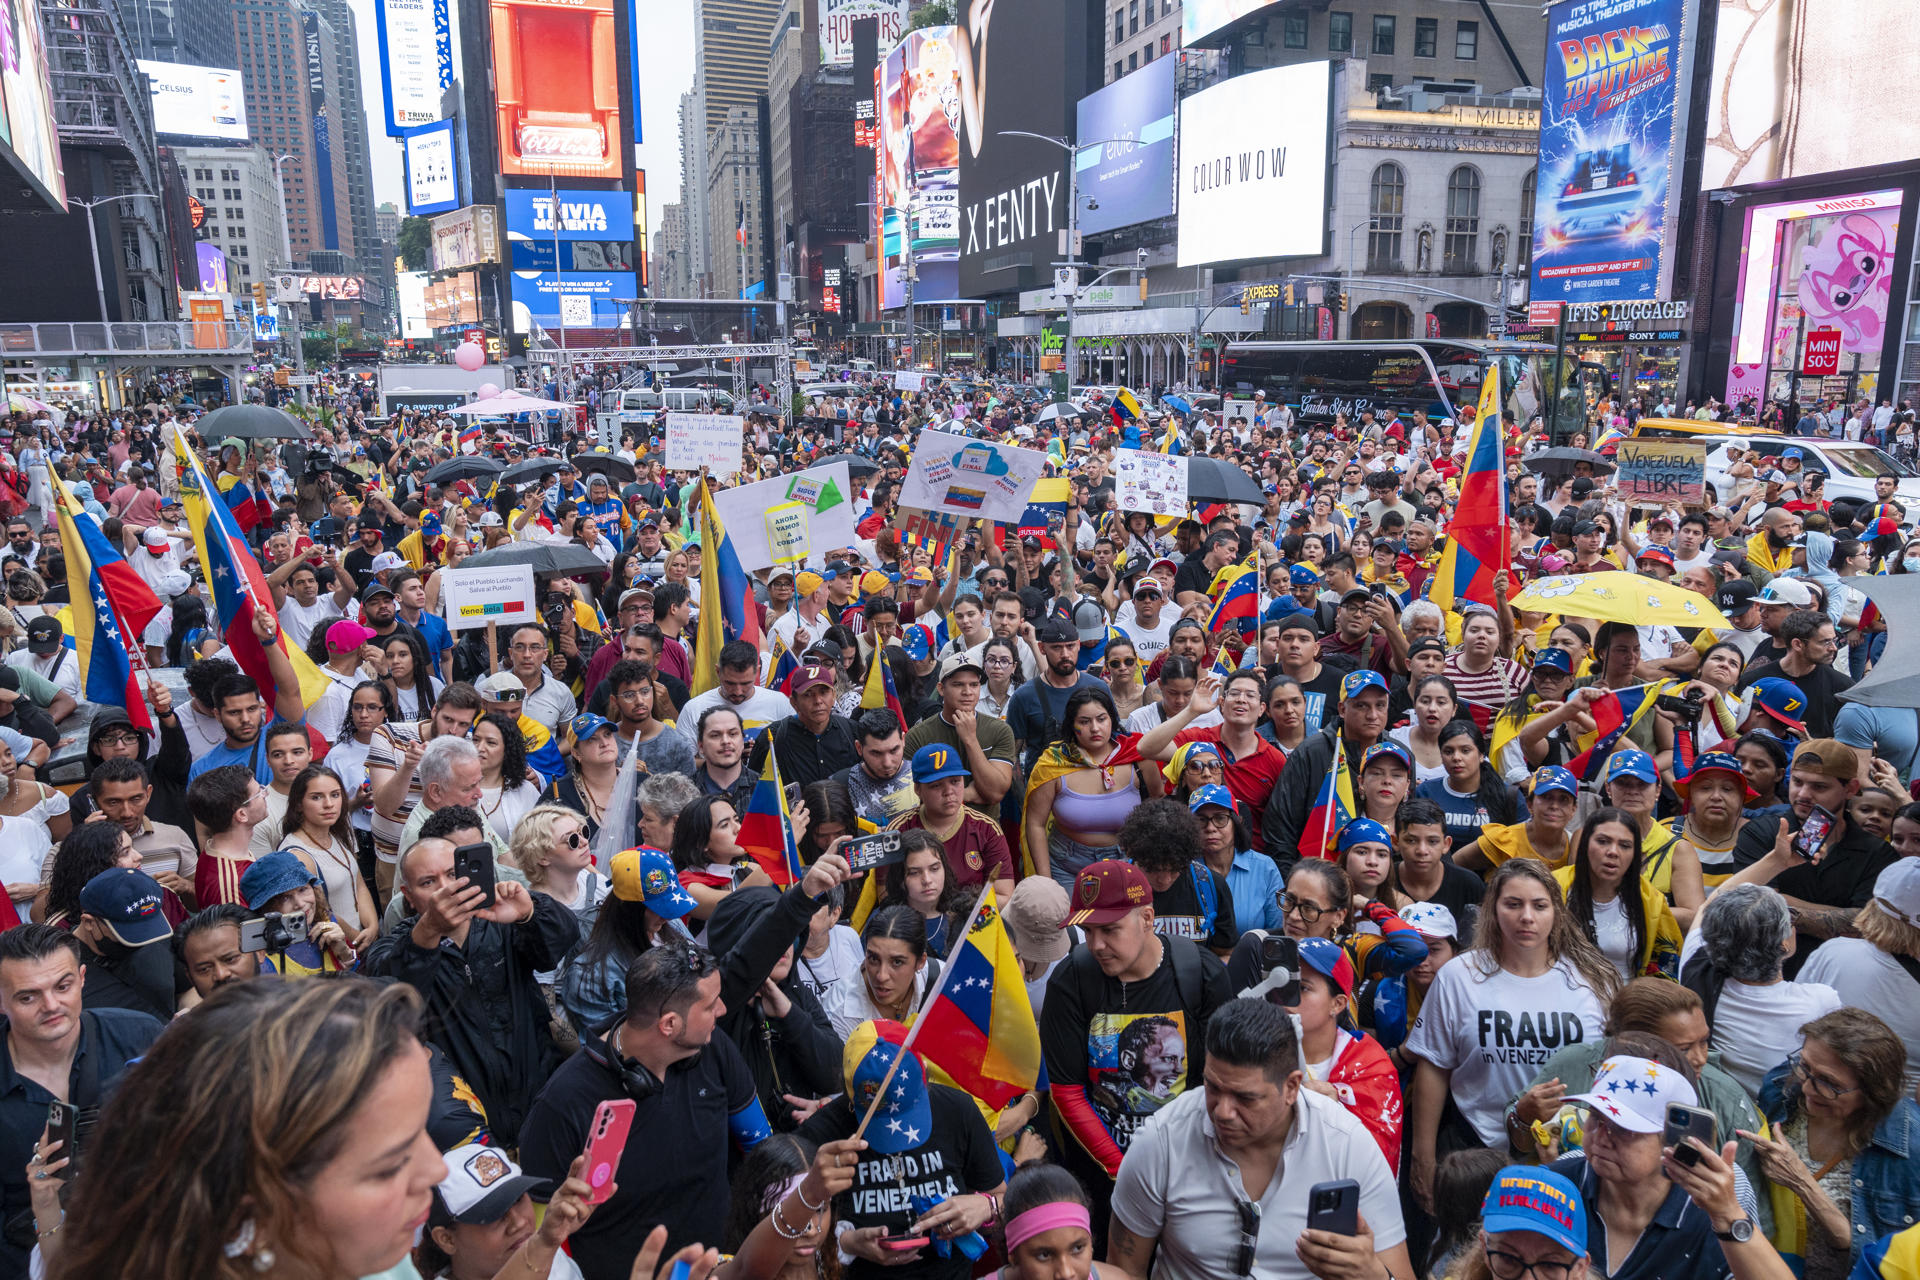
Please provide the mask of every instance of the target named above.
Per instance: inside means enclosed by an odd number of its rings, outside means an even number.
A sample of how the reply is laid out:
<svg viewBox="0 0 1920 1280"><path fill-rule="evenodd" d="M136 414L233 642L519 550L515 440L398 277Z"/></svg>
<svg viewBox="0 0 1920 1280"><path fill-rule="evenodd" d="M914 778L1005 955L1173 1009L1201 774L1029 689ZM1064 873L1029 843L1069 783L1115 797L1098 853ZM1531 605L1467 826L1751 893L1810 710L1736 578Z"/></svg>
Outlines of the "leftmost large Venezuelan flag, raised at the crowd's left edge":
<svg viewBox="0 0 1920 1280"><path fill-rule="evenodd" d="M125 706L132 723L152 733L154 718L134 672L144 668L140 635L159 612L159 597L63 484L54 486L54 510L67 551L67 595L83 603L71 610L81 691L88 702Z"/></svg>

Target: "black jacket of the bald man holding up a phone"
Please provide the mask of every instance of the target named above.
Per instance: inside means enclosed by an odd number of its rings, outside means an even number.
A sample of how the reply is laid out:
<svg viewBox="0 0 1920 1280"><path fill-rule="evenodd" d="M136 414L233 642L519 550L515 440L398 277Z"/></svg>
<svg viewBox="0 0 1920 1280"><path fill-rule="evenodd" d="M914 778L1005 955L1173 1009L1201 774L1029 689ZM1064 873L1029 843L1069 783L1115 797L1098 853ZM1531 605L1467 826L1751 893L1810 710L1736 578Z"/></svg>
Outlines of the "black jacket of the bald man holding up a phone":
<svg viewBox="0 0 1920 1280"><path fill-rule="evenodd" d="M426 1002L424 1038L445 1050L453 1069L486 1107L488 1132L497 1146L516 1146L520 1123L534 1096L561 1063L547 1031L547 998L536 973L559 967L580 940L580 919L543 892L532 894L534 915L518 925L476 919L467 946L442 938L426 950L413 940L419 915L382 935L361 960L361 973L407 983ZM470 956L499 954L505 965L507 1007L503 1029L474 990Z"/></svg>

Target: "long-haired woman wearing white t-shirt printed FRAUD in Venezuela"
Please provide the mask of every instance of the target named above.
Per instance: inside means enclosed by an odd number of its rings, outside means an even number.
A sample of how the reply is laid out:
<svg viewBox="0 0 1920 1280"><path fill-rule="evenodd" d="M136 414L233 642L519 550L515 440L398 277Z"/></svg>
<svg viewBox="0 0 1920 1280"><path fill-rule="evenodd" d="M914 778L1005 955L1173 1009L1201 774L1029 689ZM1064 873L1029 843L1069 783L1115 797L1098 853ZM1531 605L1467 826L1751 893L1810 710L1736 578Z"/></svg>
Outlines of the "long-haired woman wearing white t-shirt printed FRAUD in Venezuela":
<svg viewBox="0 0 1920 1280"><path fill-rule="evenodd" d="M1559 885L1532 858L1503 862L1486 885L1475 948L1434 979L1407 1036L1417 1059L1407 1113L1413 1128L1413 1196L1432 1203L1434 1161L1467 1146L1509 1140L1505 1100L1526 1084L1524 1055L1482 1054L1480 1013L1509 1027L1524 1021L1532 1042L1569 1044L1601 1034L1620 979L1567 912ZM1442 1132L1448 1098L1457 1121Z"/></svg>

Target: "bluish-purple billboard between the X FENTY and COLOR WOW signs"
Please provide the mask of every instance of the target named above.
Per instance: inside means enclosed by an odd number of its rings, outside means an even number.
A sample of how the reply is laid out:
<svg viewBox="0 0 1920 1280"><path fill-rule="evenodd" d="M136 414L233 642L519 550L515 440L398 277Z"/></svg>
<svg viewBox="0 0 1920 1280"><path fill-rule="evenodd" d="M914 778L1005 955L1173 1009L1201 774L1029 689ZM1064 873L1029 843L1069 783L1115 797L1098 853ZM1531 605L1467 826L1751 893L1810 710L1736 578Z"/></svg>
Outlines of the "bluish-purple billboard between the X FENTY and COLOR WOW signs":
<svg viewBox="0 0 1920 1280"><path fill-rule="evenodd" d="M1173 213L1173 58L1079 100L1081 230L1131 226Z"/></svg>

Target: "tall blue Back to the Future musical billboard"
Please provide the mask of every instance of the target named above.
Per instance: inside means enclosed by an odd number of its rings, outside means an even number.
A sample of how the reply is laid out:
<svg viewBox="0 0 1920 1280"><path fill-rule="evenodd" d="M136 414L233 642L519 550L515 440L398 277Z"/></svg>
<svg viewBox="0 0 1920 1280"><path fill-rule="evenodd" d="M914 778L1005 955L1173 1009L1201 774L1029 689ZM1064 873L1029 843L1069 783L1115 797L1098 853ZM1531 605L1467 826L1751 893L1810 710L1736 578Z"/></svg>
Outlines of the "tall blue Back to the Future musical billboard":
<svg viewBox="0 0 1920 1280"><path fill-rule="evenodd" d="M1532 301L1665 299L1697 0L1548 13Z"/></svg>

